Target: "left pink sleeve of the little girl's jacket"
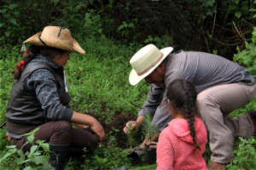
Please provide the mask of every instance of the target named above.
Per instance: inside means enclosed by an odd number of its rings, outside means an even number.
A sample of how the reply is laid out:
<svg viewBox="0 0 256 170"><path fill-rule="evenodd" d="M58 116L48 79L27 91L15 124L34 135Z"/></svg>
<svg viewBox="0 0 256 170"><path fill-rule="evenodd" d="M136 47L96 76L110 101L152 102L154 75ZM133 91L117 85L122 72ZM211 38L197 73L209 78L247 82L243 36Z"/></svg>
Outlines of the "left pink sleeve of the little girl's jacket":
<svg viewBox="0 0 256 170"><path fill-rule="evenodd" d="M162 131L164 132L164 131ZM174 149L171 141L168 139L167 133L160 133L157 144L157 168L156 170L172 170L173 169L173 153Z"/></svg>

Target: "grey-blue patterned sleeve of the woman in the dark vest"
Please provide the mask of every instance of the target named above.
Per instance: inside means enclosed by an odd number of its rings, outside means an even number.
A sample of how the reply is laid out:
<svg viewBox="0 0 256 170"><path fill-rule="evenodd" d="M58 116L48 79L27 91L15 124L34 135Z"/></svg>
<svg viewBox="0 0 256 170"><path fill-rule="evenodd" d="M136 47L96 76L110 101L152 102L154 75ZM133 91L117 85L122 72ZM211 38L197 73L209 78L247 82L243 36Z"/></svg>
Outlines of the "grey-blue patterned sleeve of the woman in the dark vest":
<svg viewBox="0 0 256 170"><path fill-rule="evenodd" d="M49 120L70 121L73 111L61 104L54 75L47 69L38 69L28 77L27 88L35 91L37 99Z"/></svg>

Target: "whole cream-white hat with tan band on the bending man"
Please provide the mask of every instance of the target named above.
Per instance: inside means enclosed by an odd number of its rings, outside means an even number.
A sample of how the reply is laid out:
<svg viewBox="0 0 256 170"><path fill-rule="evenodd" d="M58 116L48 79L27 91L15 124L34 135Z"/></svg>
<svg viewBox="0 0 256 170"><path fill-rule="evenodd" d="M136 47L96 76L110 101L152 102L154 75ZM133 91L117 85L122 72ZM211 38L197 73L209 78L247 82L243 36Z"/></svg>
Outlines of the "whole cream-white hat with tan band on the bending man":
<svg viewBox="0 0 256 170"><path fill-rule="evenodd" d="M172 47L159 50L153 44L148 44L141 48L130 59L132 70L130 72L129 82L131 85L136 85L143 80L143 78L148 77L148 75L166 59L172 50Z"/></svg>

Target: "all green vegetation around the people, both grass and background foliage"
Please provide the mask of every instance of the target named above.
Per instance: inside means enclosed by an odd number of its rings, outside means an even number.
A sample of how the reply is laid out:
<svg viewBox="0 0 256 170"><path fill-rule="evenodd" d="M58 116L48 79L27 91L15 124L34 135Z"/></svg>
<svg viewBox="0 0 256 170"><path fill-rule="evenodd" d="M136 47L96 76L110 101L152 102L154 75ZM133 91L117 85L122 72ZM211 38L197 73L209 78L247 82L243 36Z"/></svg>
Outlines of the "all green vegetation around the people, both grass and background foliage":
<svg viewBox="0 0 256 170"><path fill-rule="evenodd" d="M0 2L0 123L5 120L14 82L11 72L21 59L21 42L44 26L66 26L86 51L84 55L72 54L66 66L71 107L96 116L107 133L107 141L91 156L69 160L67 169L108 170L124 165L153 170L155 164L132 165L127 159L131 147L144 136L134 132L127 137L122 132L125 122L137 117L149 90L143 82L135 87L128 82L132 54L150 42L159 48L202 50L229 59L235 54L234 60L256 77L255 4L255 0ZM256 110L256 99L232 116L251 109ZM151 132L150 124L142 130ZM4 134L5 127L0 129L0 169L47 166L44 141L23 153L7 147ZM256 169L255 145L255 138L237 139L229 169ZM38 150L39 146L44 152ZM204 156L208 162L209 148Z"/></svg>

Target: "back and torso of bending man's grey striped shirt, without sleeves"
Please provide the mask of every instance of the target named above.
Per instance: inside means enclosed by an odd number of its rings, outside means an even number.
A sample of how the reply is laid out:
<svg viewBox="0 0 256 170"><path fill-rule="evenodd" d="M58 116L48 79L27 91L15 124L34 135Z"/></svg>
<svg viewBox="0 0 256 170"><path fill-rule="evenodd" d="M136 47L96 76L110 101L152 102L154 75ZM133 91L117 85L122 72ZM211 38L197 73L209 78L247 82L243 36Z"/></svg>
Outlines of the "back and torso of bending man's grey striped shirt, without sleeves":
<svg viewBox="0 0 256 170"><path fill-rule="evenodd" d="M221 56L203 52L171 54L166 61L166 87L177 78L193 82L198 93L221 84L254 83L246 68Z"/></svg>

